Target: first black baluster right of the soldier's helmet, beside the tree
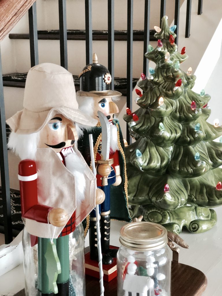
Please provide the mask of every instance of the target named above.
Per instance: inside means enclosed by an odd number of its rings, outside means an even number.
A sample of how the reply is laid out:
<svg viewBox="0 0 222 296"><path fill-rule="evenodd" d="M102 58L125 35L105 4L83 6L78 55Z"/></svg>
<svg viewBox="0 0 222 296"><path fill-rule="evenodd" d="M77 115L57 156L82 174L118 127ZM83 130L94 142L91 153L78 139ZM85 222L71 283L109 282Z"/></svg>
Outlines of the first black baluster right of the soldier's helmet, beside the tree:
<svg viewBox="0 0 222 296"><path fill-rule="evenodd" d="M126 107L132 109L132 91L133 91L133 0L127 0L127 98ZM132 143L126 125L126 141Z"/></svg>

